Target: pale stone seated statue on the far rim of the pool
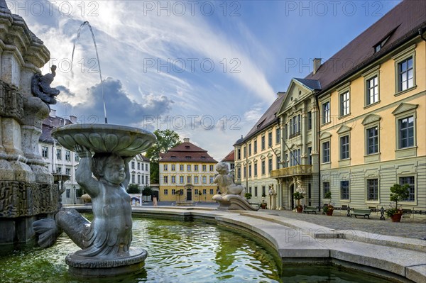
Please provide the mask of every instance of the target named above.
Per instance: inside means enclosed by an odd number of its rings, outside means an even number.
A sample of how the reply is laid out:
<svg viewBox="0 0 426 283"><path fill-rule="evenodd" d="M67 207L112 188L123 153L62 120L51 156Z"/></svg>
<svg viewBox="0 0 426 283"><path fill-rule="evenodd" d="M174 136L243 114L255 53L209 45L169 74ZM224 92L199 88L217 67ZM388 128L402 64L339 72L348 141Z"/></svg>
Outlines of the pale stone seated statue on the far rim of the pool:
<svg viewBox="0 0 426 283"><path fill-rule="evenodd" d="M213 182L219 186L219 190L222 193L216 194L212 198L214 201L219 202L217 209L257 210L244 199L246 189L239 184L234 184L234 176L229 174L229 168L225 162L217 163L216 171L219 174L214 178Z"/></svg>

